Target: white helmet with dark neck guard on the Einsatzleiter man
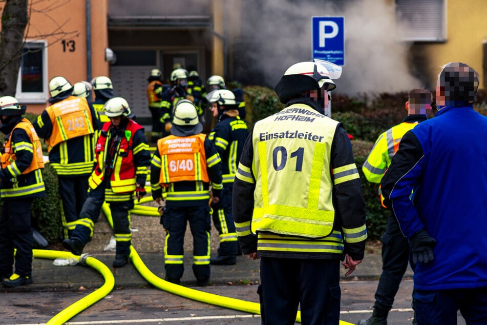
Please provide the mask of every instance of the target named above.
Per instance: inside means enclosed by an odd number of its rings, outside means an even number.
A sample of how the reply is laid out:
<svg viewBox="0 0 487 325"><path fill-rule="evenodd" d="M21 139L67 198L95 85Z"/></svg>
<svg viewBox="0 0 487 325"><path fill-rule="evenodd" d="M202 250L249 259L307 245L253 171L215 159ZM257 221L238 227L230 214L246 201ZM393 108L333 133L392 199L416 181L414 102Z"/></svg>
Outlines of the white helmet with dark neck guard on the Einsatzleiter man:
<svg viewBox="0 0 487 325"><path fill-rule="evenodd" d="M327 91L336 88L328 70L320 63L299 62L284 72L275 91L281 103L286 104L292 97L301 96L310 90L319 91L323 87Z"/></svg>

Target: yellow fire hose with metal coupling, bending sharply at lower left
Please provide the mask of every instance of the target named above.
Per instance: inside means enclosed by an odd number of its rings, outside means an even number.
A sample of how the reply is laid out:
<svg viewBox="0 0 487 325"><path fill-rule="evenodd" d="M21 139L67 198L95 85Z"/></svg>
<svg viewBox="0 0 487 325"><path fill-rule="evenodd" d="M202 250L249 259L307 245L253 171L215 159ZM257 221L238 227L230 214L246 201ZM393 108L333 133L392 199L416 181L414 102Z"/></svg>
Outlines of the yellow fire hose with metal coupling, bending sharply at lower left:
<svg viewBox="0 0 487 325"><path fill-rule="evenodd" d="M115 286L115 278L113 277L112 271L104 265L103 262L99 261L98 259L88 255L83 254L81 256L73 255L69 252L62 252L62 251L51 251L51 250L32 250L33 256L35 258L47 258L47 259L56 259L56 258L75 258L78 259L83 265L86 264L89 267L100 272L100 274L105 279L103 286L95 290L94 292L90 293L89 295L81 298L80 300L76 301L75 303L71 304L67 308L63 309L54 317L52 317L47 324L63 324L67 322L69 319L73 318L83 310L90 307L92 304L97 302L98 300L107 296Z"/></svg>

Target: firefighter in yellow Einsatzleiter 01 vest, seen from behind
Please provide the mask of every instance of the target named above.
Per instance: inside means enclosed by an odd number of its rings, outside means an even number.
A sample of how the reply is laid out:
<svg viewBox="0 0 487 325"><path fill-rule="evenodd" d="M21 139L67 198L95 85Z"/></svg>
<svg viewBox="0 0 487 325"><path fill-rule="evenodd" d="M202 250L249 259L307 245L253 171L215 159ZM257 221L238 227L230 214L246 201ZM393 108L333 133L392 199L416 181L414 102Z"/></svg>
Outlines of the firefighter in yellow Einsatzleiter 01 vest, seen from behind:
<svg viewBox="0 0 487 325"><path fill-rule="evenodd" d="M263 324L340 321L340 260L351 274L367 230L361 182L343 125L325 116L335 88L319 63L289 67L276 86L286 107L245 142L233 210L244 254L261 259Z"/></svg>

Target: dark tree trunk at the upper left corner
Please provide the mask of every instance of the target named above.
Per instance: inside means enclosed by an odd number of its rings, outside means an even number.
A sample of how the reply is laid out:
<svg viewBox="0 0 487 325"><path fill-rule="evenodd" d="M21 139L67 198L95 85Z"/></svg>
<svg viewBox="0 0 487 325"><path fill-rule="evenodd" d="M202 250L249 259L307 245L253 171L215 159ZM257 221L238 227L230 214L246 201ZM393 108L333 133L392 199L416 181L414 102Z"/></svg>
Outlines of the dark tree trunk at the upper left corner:
<svg viewBox="0 0 487 325"><path fill-rule="evenodd" d="M28 23L28 0L6 0L0 32L0 95L15 96L18 69Z"/></svg>

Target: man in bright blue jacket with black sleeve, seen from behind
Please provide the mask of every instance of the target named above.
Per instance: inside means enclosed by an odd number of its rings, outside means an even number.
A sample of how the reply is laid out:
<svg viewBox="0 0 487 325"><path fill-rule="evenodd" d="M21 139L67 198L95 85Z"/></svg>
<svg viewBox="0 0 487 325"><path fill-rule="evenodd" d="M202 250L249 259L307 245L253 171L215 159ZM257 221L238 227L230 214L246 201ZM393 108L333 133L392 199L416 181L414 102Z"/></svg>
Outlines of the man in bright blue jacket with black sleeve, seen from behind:
<svg viewBox="0 0 487 325"><path fill-rule="evenodd" d="M418 324L487 323L487 117L478 73L443 66L438 113L401 139L382 178L385 205L409 238ZM411 192L413 191L413 195Z"/></svg>

